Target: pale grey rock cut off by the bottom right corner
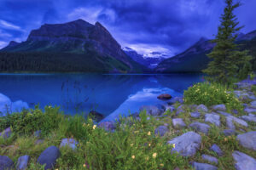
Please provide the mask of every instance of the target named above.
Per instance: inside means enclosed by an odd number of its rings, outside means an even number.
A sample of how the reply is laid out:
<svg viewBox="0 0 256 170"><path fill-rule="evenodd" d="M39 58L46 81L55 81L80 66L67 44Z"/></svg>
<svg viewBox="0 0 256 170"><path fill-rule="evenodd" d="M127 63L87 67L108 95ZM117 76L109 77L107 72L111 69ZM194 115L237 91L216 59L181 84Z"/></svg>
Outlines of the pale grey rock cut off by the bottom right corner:
<svg viewBox="0 0 256 170"><path fill-rule="evenodd" d="M234 160L236 161L235 167L236 170L254 170L256 169L256 160L247 156L240 151L234 151L232 154Z"/></svg>

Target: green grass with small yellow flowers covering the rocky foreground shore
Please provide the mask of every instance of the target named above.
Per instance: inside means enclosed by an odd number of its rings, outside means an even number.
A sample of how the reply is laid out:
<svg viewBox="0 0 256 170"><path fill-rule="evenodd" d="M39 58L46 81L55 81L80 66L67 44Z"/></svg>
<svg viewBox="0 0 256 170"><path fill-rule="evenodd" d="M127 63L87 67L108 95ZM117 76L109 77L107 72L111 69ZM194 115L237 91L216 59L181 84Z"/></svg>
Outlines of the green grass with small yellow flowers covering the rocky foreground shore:
<svg viewBox="0 0 256 170"><path fill-rule="evenodd" d="M175 104L177 108L180 104ZM232 107L230 110L233 109ZM221 126L211 124L208 135L201 134L201 147L195 156L182 157L171 154L172 145L167 141L192 131L189 124L192 122L204 122L204 115L201 112L199 118L190 116L195 111L192 105L183 105L183 112L175 116L175 112L166 111L165 116L153 117L145 111L140 113L140 121L132 117L121 118L116 124L114 132L107 132L100 127L95 127L90 118L84 116L65 116L57 107L47 106L44 112L35 110L21 111L20 113L9 114L0 117L0 132L11 127L13 134L9 139L0 137L0 155L9 156L15 163L19 156L29 155L31 161L28 169L44 169L37 164L40 153L51 145L59 146L61 139L73 138L79 141L76 150L62 147L61 157L57 160L55 169L193 169L190 161L210 163L201 158L202 154L218 158L218 169L235 169L232 153L239 150L248 156L256 158L256 151L247 150L241 147L236 136L226 137L223 130L226 129L225 117L220 116ZM212 112L209 109L208 112ZM239 113L245 114L242 111ZM183 118L187 127L174 128L173 118ZM164 137L154 135L154 129L167 123L169 131ZM235 123L236 124L236 123ZM243 129L246 132L255 131L256 124L248 123L244 128L236 124L236 129ZM33 133L42 131L43 143L37 143ZM237 133L244 133L241 130ZM224 151L224 156L217 156L212 152L212 144L218 144ZM214 165L214 164L213 164Z"/></svg>

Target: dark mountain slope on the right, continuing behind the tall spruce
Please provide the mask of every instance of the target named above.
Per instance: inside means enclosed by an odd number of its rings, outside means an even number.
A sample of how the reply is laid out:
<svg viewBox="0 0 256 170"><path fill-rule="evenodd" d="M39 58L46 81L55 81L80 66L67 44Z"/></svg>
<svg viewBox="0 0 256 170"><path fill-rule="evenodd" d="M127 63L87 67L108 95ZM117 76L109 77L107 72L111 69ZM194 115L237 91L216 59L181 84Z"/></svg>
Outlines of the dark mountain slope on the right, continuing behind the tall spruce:
<svg viewBox="0 0 256 170"><path fill-rule="evenodd" d="M253 70L256 70L256 31L247 34L239 34L236 43L241 50L247 49L253 55ZM156 72L201 72L207 68L210 59L207 54L211 53L214 43L207 38L201 38L192 47L185 50L182 54L165 59L154 69Z"/></svg>

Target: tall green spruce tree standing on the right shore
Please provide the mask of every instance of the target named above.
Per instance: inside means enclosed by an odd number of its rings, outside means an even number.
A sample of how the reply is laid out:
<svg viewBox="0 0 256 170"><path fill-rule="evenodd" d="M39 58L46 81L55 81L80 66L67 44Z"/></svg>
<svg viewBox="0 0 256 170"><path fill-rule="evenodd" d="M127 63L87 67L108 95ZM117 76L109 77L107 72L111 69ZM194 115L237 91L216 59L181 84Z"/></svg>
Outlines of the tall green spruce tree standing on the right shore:
<svg viewBox="0 0 256 170"><path fill-rule="evenodd" d="M233 0L225 0L226 7L224 14L221 15L221 25L218 26L218 35L212 42L216 43L212 53L207 56L212 59L204 73L207 73L207 79L210 82L230 83L237 79L247 77L251 71L248 51L239 51L235 43L238 31L242 26L238 26L236 15L233 14L235 8L241 3L234 3Z"/></svg>

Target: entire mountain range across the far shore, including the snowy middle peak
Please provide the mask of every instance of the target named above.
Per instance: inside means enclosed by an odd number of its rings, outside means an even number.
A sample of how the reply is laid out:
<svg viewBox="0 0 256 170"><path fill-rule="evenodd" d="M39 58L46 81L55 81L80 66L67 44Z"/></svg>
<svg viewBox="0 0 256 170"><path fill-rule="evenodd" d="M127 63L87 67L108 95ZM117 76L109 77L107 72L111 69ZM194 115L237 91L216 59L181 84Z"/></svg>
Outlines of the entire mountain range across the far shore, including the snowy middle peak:
<svg viewBox="0 0 256 170"><path fill-rule="evenodd" d="M256 70L256 31L239 34L236 43L253 55ZM181 54L167 58L152 52L137 54L121 48L109 31L99 22L84 20L64 24L45 24L31 31L25 42L9 42L0 50L1 72L201 72L207 68L207 57L214 44L202 37Z"/></svg>

